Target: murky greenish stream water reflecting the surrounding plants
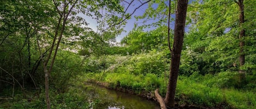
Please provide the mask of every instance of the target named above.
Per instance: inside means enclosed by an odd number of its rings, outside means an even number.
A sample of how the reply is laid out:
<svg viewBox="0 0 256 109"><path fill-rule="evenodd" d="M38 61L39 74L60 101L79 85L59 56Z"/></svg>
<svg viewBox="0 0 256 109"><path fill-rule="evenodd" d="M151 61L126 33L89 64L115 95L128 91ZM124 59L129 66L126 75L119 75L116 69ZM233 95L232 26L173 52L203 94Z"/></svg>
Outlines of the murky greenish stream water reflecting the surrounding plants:
<svg viewBox="0 0 256 109"><path fill-rule="evenodd" d="M156 102L133 94L97 85L87 85L86 87L91 109L159 109Z"/></svg>

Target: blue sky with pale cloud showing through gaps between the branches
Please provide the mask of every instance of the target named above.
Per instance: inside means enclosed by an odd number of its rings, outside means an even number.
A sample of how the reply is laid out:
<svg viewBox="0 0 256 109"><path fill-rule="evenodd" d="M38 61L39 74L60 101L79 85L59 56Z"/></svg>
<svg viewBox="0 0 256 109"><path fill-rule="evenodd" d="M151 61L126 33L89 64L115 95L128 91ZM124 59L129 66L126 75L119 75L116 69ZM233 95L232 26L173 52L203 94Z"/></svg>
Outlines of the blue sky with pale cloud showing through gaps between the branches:
<svg viewBox="0 0 256 109"><path fill-rule="evenodd" d="M130 1L127 0L127 2L130 2ZM145 1L141 1L141 2L145 2ZM124 3L124 2L122 2L122 4L124 5L124 7L125 7L125 9L126 9L127 6L128 6L128 4L127 4L127 3ZM128 13L132 13L135 8L139 7L140 4L141 4L141 3L140 3L139 1L136 1L136 0L135 0L135 1L132 3L132 5L130 5L130 7L128 8L127 12L128 12ZM156 7L157 7L157 5L156 5ZM142 7L140 7L139 9L137 9L137 10L135 11L135 13L132 15L132 17L131 17L129 20L127 20L127 23L126 23L126 25L125 25L125 27L124 27L124 30L125 30L125 31L123 31L123 32L121 33L121 35L118 35L118 36L116 37L116 41L117 41L117 42L120 42L120 41L123 39L123 37L126 36L126 35L129 33L129 31L131 31L131 30L134 28L134 23L139 23L139 22L143 22L143 21L144 21L144 20L138 20L138 21L136 21L136 19L134 18L134 16L143 15L144 12L145 12L145 10L146 10L147 8L148 8L148 4L142 5ZM174 17L174 16L172 16L172 17ZM85 18L86 18L87 23L89 23L89 24L88 24L88 27L92 28L94 31L97 31L97 25L98 25L98 24L97 24L96 20L94 20L94 19L91 18L91 17L87 17L87 16L85 16ZM155 20L155 21L154 21L154 20L148 21L147 24L153 23L153 22L156 22L156 20ZM141 24L142 24L142 23L141 23ZM171 25L174 25L174 22L172 22ZM173 27L174 27L174 26L171 26L172 29L173 29ZM155 29L155 28L152 27L152 28L147 28L147 29L145 29L145 30L148 31L148 30L153 30L153 29Z"/></svg>

